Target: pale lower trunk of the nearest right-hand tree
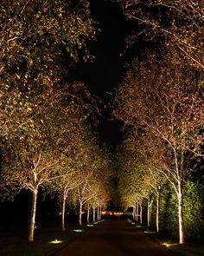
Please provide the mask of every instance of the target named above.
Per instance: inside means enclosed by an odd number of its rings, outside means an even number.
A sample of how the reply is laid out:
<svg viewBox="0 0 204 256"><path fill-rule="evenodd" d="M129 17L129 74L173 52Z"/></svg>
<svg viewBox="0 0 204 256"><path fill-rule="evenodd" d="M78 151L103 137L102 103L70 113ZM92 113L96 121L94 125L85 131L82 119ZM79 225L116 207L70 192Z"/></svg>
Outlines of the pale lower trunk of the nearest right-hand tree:
<svg viewBox="0 0 204 256"><path fill-rule="evenodd" d="M178 217L179 217L179 243L185 244L184 235L184 222L183 222L183 194L182 194L182 184L178 184Z"/></svg>

